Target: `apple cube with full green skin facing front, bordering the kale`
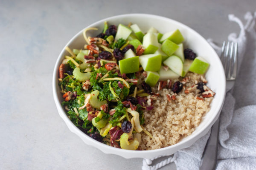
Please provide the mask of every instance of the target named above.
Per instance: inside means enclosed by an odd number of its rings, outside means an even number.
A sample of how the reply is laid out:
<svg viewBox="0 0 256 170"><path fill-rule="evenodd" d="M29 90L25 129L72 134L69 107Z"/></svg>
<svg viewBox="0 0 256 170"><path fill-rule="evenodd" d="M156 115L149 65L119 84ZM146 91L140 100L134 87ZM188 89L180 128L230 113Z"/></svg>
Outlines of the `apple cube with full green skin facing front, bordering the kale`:
<svg viewBox="0 0 256 170"><path fill-rule="evenodd" d="M139 56L119 60L119 68L120 68L121 74L135 73L139 71L139 68L140 68Z"/></svg>

